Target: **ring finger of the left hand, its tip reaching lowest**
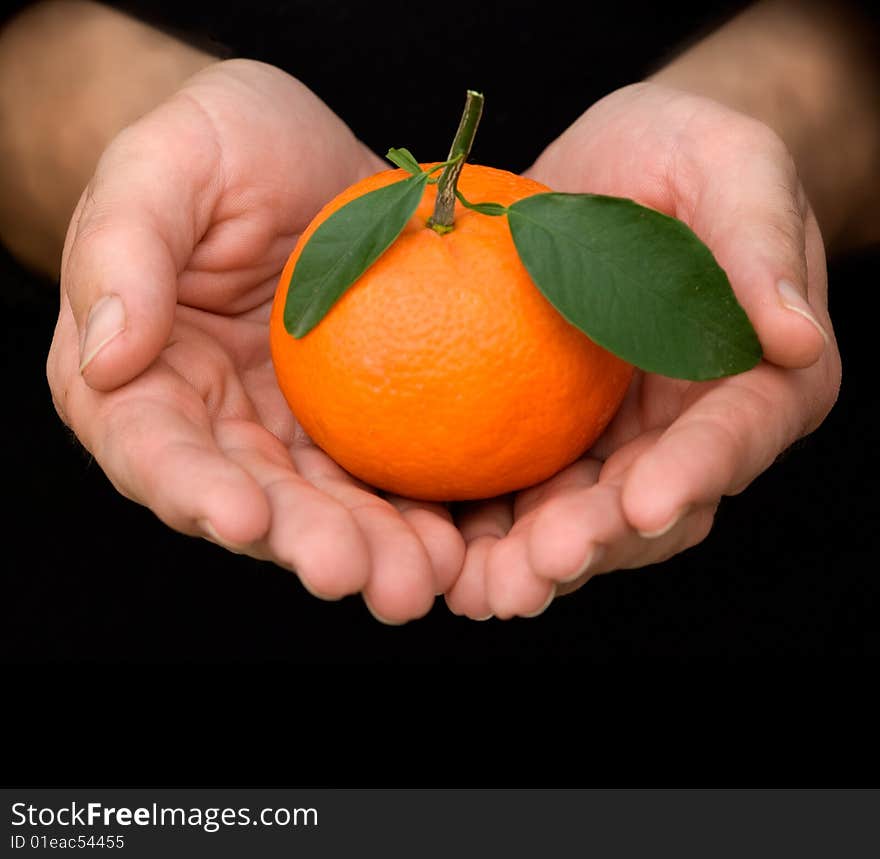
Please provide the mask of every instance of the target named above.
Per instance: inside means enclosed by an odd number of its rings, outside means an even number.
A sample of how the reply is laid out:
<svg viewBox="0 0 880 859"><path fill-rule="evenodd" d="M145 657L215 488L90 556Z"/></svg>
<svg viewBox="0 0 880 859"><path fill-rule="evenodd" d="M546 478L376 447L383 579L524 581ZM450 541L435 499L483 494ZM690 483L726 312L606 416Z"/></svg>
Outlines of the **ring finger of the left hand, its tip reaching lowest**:
<svg viewBox="0 0 880 859"><path fill-rule="evenodd" d="M428 552L412 527L323 451L307 445L294 447L291 453L297 471L343 504L364 535L370 576L363 597L374 617L397 625L427 614L434 604L434 574Z"/></svg>

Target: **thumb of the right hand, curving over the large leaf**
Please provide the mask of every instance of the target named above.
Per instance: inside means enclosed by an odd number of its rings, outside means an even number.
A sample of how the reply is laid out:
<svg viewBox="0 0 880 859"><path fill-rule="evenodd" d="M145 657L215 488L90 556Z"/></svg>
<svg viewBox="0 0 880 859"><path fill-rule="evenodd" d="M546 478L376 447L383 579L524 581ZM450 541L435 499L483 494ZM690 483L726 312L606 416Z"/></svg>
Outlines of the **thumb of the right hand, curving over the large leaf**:
<svg viewBox="0 0 880 859"><path fill-rule="evenodd" d="M805 233L797 170L767 126L641 84L587 111L530 172L559 190L632 197L681 219L727 272L767 360L806 367L822 354L823 267L805 259L808 247L822 253L821 241Z"/></svg>

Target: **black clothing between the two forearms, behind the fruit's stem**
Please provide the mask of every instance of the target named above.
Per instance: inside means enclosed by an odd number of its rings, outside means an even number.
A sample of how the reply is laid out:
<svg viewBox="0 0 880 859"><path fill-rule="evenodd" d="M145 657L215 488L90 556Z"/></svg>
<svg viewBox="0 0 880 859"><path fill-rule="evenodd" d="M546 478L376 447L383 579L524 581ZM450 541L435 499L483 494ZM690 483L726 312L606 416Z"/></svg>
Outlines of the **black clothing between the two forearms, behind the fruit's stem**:
<svg viewBox="0 0 880 859"><path fill-rule="evenodd" d="M516 171L593 101L747 4L474 0L454 14L351 0L107 5L221 57L283 68L380 155L406 146L444 158L465 90L478 89L486 112L472 158Z"/></svg>

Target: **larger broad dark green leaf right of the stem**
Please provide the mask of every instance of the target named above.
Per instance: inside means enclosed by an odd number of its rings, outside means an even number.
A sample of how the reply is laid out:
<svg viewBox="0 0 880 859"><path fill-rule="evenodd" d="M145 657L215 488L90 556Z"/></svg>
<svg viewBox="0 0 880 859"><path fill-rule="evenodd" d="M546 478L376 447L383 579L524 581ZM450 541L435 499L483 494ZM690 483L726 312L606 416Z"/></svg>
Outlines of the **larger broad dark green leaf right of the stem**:
<svg viewBox="0 0 880 859"><path fill-rule="evenodd" d="M761 360L727 275L681 221L620 197L560 193L517 201L508 221L550 303L625 361L700 380Z"/></svg>

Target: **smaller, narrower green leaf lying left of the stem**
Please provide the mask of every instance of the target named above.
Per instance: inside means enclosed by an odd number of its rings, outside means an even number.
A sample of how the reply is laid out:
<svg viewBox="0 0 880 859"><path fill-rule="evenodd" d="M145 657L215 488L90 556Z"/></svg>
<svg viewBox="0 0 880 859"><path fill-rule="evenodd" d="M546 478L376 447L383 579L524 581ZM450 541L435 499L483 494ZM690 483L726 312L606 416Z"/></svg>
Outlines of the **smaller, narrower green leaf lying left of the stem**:
<svg viewBox="0 0 880 859"><path fill-rule="evenodd" d="M315 230L287 290L284 327L290 334L308 334L391 246L418 208L427 180L427 173L419 173L370 191Z"/></svg>

